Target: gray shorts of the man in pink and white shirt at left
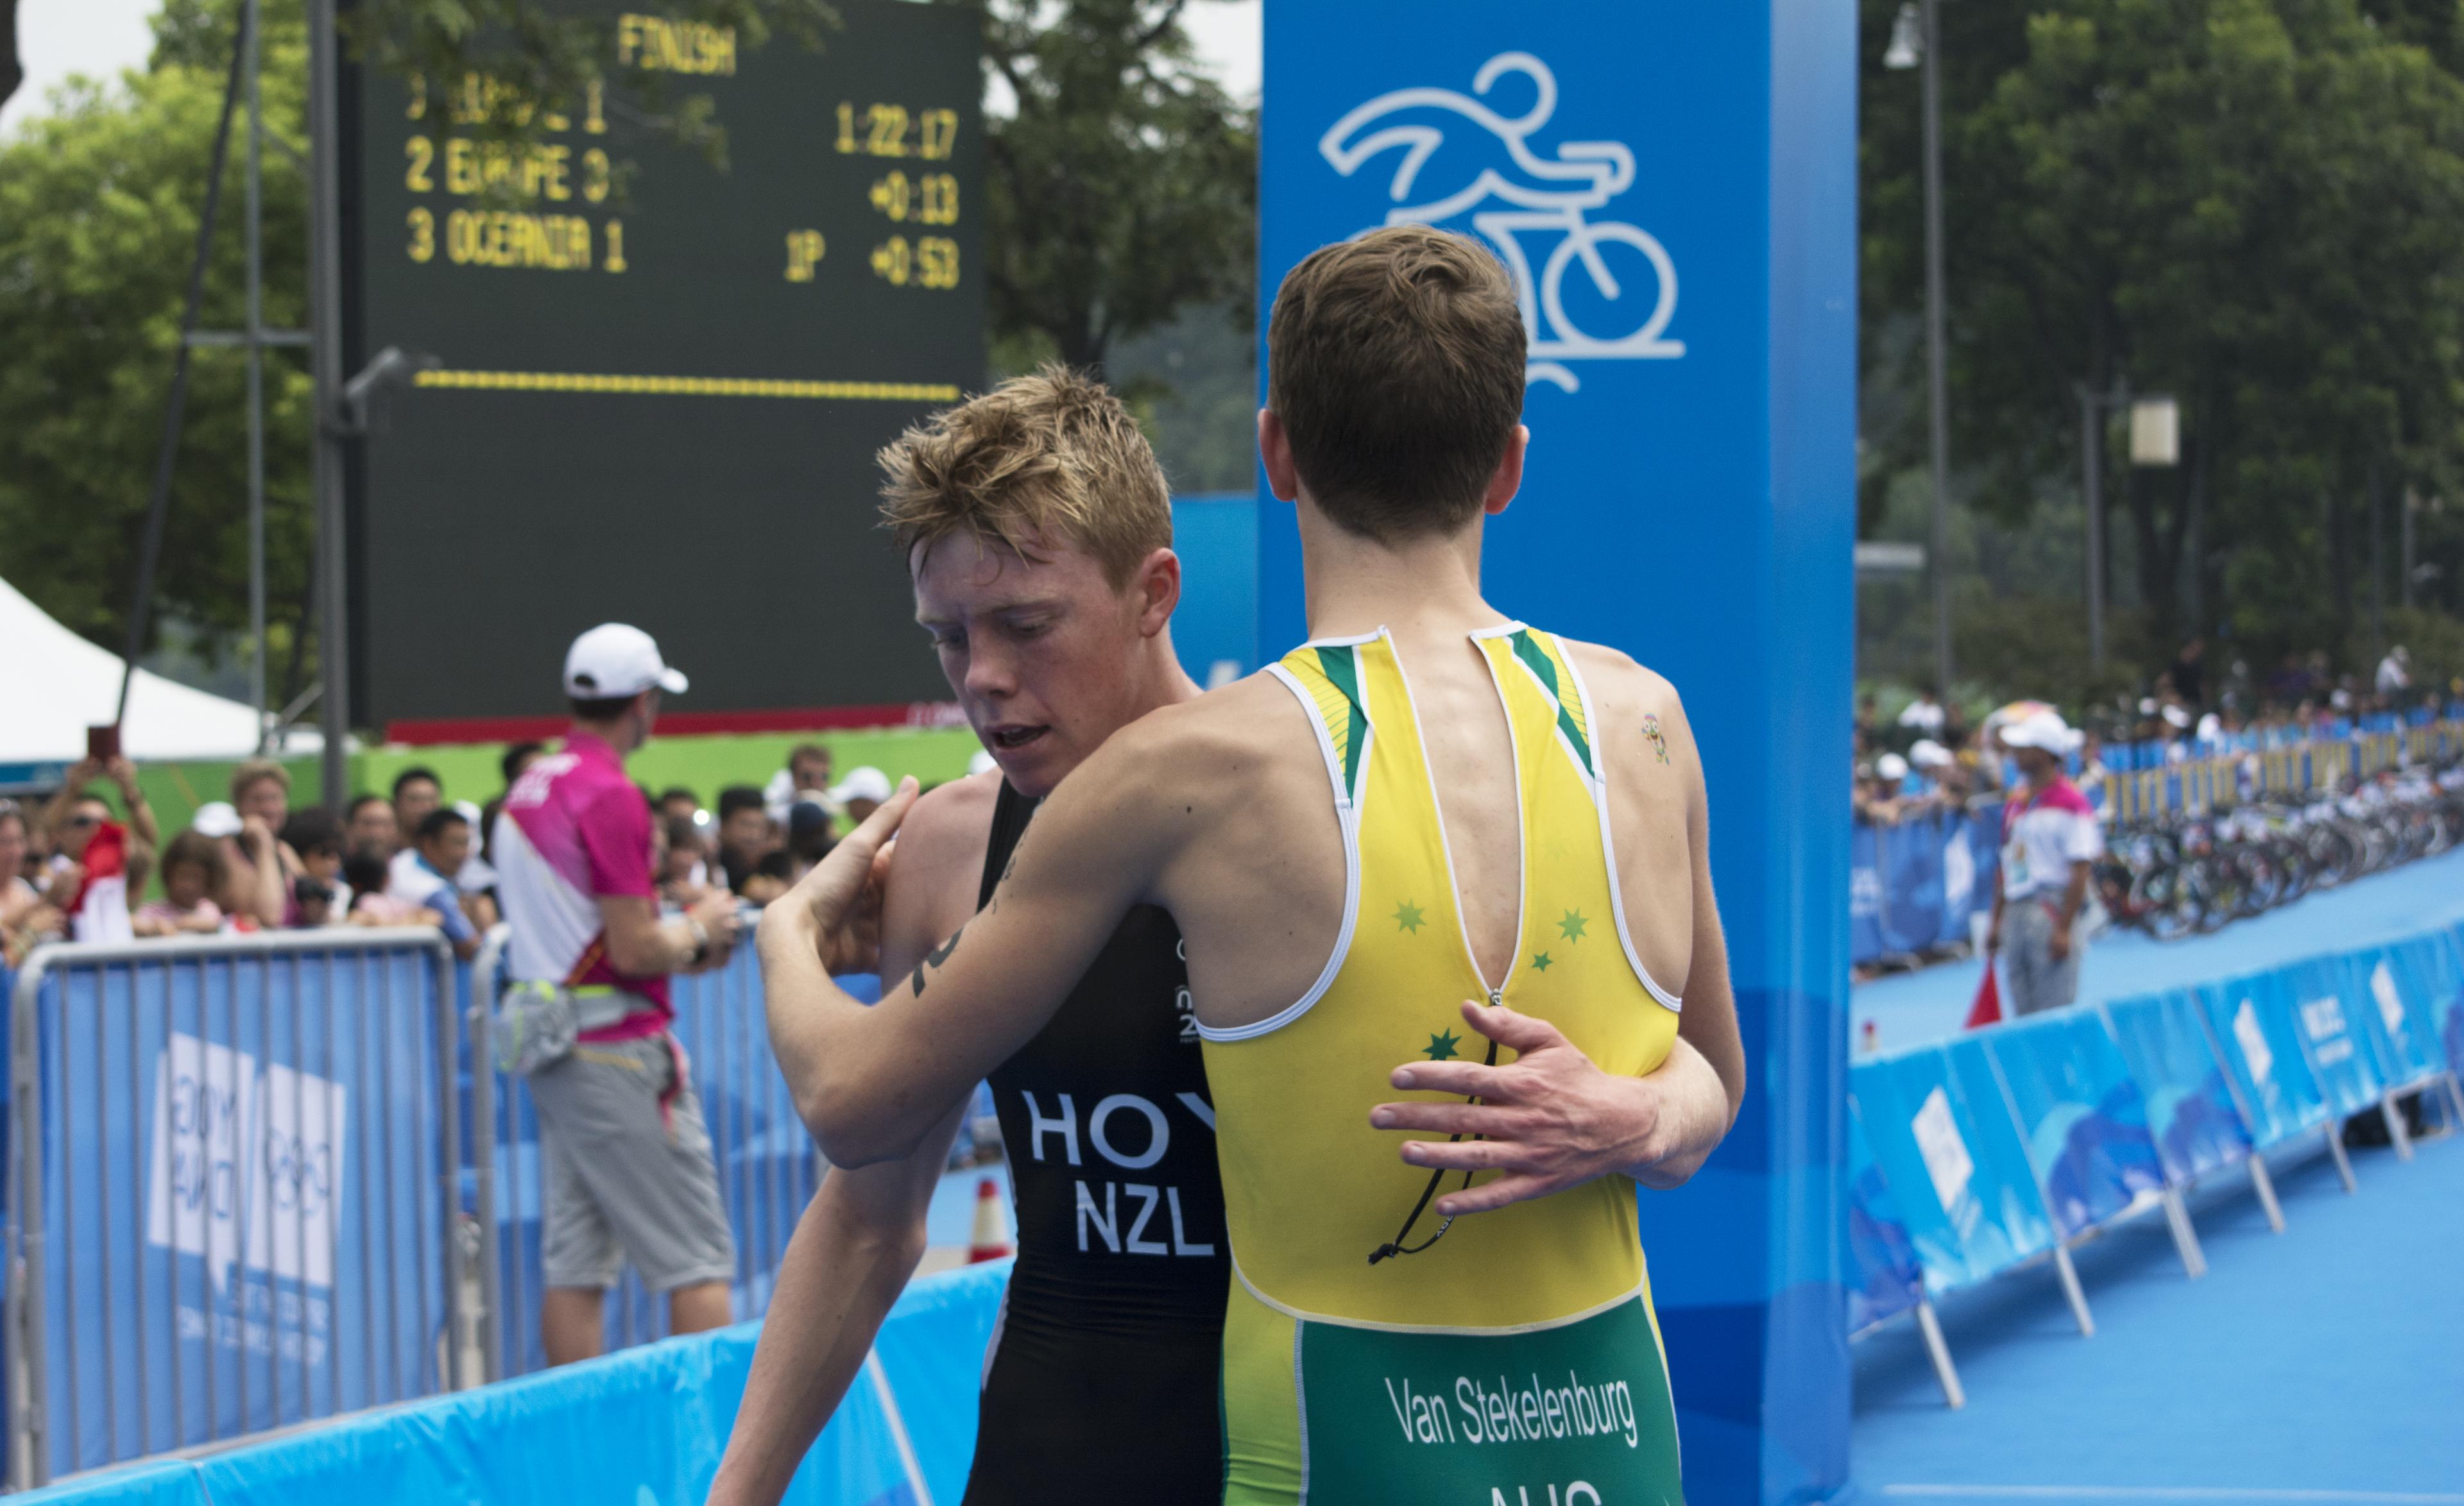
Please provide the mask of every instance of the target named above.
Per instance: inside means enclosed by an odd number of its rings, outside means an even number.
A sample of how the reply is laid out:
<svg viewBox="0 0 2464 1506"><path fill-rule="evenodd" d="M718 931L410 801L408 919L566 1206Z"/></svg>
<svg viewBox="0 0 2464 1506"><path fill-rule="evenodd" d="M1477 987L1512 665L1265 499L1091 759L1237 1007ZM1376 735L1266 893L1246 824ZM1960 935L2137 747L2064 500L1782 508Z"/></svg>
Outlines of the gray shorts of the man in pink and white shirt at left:
<svg viewBox="0 0 2464 1506"><path fill-rule="evenodd" d="M727 1282L737 1242L710 1161L702 1099L675 1080L665 1035L584 1043L530 1075L547 1161L549 1287L606 1289L623 1262L650 1292Z"/></svg>

